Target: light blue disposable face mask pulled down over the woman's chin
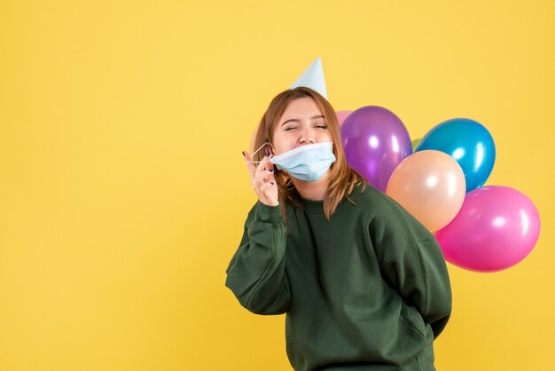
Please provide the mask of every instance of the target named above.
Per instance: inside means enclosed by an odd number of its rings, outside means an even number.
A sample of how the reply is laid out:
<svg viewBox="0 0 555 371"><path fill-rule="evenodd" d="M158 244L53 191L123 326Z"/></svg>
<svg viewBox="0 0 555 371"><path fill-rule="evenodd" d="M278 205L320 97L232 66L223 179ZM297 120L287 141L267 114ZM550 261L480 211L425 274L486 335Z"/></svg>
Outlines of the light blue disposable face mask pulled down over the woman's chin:
<svg viewBox="0 0 555 371"><path fill-rule="evenodd" d="M269 143L264 143L254 151L254 154L267 144ZM304 180L305 182L314 182L322 178L325 172L330 169L332 163L335 162L332 148L332 142L299 146L284 154L272 157L270 162L276 165L277 170L285 170L294 178Z"/></svg>

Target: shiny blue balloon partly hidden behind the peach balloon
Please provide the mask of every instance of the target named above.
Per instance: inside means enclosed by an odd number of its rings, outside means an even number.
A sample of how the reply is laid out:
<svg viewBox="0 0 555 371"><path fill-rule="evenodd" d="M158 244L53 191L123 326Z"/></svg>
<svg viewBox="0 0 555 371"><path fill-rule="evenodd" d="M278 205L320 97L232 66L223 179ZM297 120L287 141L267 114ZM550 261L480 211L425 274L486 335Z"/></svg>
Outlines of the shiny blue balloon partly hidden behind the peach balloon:
<svg viewBox="0 0 555 371"><path fill-rule="evenodd" d="M465 173L466 192L483 186L496 162L496 145L489 131L471 119L442 122L420 140L414 152L434 149L457 160Z"/></svg>

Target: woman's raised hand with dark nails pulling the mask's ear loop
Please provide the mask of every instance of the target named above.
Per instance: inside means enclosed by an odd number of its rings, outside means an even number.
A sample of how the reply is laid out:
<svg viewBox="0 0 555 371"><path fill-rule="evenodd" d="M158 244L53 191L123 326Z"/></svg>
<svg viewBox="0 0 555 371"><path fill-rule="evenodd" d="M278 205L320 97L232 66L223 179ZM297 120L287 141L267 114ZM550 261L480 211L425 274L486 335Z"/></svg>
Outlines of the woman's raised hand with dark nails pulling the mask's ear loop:
<svg viewBox="0 0 555 371"><path fill-rule="evenodd" d="M277 206L279 201L277 199L277 184L274 178L274 164L270 162L272 154L267 154L262 159L263 162L258 164L250 163L251 155L248 152L243 152L246 160L246 167L248 174L253 183L254 192L263 204L268 206Z"/></svg>

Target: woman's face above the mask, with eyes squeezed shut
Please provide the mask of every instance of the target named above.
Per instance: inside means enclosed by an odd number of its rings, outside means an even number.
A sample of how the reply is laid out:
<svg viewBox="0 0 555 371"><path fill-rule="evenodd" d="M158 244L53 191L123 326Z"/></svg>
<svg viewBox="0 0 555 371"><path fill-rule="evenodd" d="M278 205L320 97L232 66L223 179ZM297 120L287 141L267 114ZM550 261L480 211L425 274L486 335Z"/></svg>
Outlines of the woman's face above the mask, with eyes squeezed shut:
<svg viewBox="0 0 555 371"><path fill-rule="evenodd" d="M298 146L331 142L324 114L309 98L293 100L277 122L272 138L275 154L283 154Z"/></svg>

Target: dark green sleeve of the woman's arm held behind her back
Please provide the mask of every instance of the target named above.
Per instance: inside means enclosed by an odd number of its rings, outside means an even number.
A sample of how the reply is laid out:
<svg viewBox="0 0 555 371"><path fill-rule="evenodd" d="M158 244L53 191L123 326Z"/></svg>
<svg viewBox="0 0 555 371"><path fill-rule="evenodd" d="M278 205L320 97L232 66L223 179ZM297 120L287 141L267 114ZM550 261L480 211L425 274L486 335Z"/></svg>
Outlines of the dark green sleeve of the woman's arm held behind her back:
<svg viewBox="0 0 555 371"><path fill-rule="evenodd" d="M395 201L379 241L387 252L382 263L382 275L429 323L434 338L447 325L451 314L452 296L449 272L442 249L432 233Z"/></svg>

